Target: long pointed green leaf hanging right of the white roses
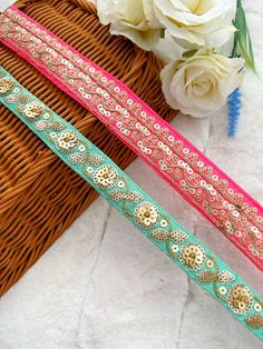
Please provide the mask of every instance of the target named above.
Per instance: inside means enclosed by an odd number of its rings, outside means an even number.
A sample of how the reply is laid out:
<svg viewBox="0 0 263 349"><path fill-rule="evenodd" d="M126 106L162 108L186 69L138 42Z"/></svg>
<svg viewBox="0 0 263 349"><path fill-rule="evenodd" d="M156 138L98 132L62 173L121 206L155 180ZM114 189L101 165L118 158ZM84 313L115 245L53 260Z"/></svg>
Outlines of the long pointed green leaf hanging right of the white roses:
<svg viewBox="0 0 263 349"><path fill-rule="evenodd" d="M235 32L232 57L243 57L250 69L255 71L255 61L251 36L246 23L245 11L242 7L241 0L236 1L236 14L235 21L233 23L236 27L237 31Z"/></svg>

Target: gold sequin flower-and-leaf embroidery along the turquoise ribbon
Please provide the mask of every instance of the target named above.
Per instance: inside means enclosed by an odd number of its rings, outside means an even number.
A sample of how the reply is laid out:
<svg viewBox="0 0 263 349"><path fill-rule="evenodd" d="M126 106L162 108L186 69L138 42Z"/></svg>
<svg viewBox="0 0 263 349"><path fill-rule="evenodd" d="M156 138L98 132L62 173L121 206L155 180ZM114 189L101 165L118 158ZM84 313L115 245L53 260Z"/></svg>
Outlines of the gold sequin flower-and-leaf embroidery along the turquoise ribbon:
<svg viewBox="0 0 263 349"><path fill-rule="evenodd" d="M0 73L0 81L3 78L4 74ZM66 152L68 149L76 151L70 156L76 156L75 159L80 159L78 156L81 154L81 159L84 159L84 161L78 163L81 164L84 172L92 180L92 182L99 186L103 190L108 190L114 186L118 187L118 189L113 189L113 191L108 192L108 196L110 197L111 195L115 197L116 192L118 200L123 201L124 212L128 217L133 218L145 229L154 228L155 226L160 227L153 230L149 236L155 241L164 242L164 246L172 259L176 260L182 266L185 266L185 268L196 275L197 280L201 283L213 285L214 295L221 301L225 302L236 315L245 315L254 308L254 313L251 313L244 321L249 327L256 330L263 327L263 318L259 313L262 311L263 303L260 299L252 295L253 292L247 286L242 283L232 285L235 277L227 270L221 270L216 260L212 256L207 256L203 247L198 243L192 242L179 247L182 242L187 240L188 236L179 229L174 231L169 218L160 213L155 205L143 201L135 209L133 209L133 207L128 208L126 202L132 198L139 198L138 200L143 200L144 197L136 191L132 191L129 182L125 178L120 177L114 167L101 164L104 159L99 154L91 156L89 152L89 143L84 140L80 141L79 136L76 132L66 130L67 124L62 120L55 121L52 111L48 109L46 110L43 104L40 104L42 107L40 114L41 120L36 121L33 118L28 119L27 114L22 111L27 110L27 106L31 104L32 97L28 94L27 98L27 92L22 91L21 88L14 87L13 90L9 92L10 94L6 97L7 101L9 100L9 97L12 96L11 93L13 93L13 91L17 91L16 98L12 99L16 100L16 102L12 101L11 103L17 103L17 106L14 106L17 111L21 114L21 117L25 117L25 119L30 121L32 127L36 129L40 127L40 122L45 122L42 131L47 132L46 136L50 142L56 144L61 154L65 153L65 149ZM25 108L21 110L18 108L20 93L23 96L25 100ZM58 140L61 139L62 143L58 142ZM97 166L100 167L94 169L94 167ZM208 269L206 269L205 266ZM198 270L204 267L205 270L199 272ZM213 293L213 291L211 292Z"/></svg>

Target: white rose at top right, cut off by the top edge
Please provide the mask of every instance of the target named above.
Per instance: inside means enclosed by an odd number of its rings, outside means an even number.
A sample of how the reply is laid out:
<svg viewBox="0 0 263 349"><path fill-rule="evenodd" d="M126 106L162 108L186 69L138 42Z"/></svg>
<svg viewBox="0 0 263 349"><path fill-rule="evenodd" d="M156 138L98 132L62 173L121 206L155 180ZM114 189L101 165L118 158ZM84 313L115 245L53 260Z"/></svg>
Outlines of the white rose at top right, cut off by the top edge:
<svg viewBox="0 0 263 349"><path fill-rule="evenodd" d="M169 34L186 48L221 47L235 31L230 16L234 1L154 0L154 9Z"/></svg>

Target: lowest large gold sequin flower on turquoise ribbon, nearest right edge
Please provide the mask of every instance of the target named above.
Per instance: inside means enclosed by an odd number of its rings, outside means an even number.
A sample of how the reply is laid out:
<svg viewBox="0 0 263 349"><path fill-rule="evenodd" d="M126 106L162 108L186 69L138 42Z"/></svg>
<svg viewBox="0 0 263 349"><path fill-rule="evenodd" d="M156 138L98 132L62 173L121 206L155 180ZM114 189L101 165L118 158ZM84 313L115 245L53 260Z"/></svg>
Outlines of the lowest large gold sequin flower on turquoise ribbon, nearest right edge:
<svg viewBox="0 0 263 349"><path fill-rule="evenodd" d="M244 285L234 285L227 295L228 306L236 313L246 313L252 307L252 295Z"/></svg>

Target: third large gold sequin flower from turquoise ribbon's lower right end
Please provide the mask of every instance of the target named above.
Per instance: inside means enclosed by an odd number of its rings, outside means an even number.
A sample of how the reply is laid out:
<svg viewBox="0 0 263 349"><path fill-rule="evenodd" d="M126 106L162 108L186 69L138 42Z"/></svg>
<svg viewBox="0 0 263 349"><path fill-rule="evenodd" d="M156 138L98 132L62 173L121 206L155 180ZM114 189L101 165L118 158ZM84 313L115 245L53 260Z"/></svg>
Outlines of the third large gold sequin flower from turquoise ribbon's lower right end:
<svg viewBox="0 0 263 349"><path fill-rule="evenodd" d="M157 223L159 212L153 203L143 202L135 209L134 217L140 227L149 229Z"/></svg>

